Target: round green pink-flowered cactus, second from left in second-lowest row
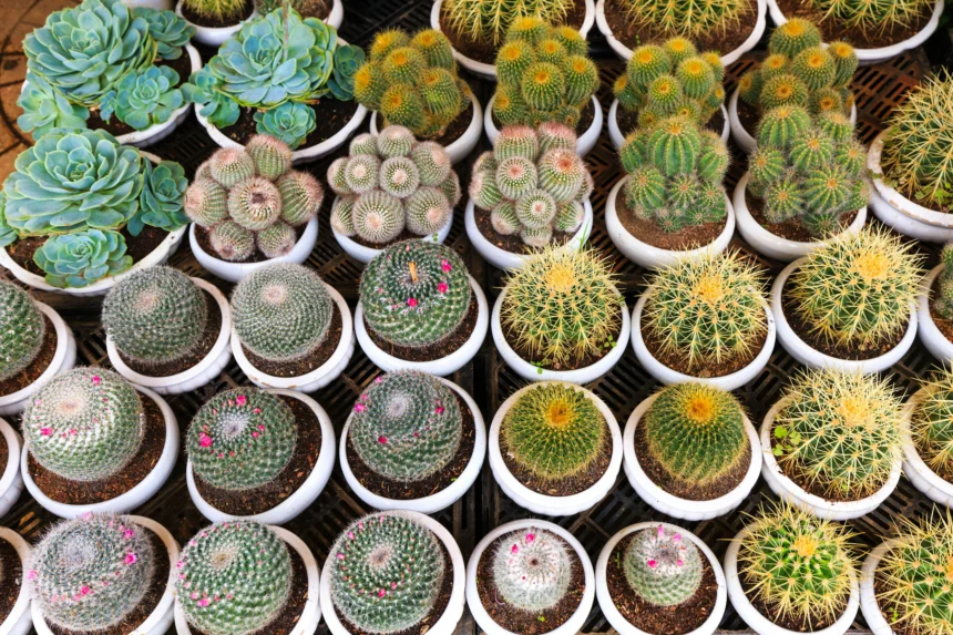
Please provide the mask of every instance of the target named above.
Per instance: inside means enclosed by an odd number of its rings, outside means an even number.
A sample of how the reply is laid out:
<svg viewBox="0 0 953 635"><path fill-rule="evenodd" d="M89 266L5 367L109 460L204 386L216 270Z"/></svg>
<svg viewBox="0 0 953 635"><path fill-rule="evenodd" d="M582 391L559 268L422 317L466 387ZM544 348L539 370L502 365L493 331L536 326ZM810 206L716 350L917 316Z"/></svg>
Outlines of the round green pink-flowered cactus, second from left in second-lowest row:
<svg viewBox="0 0 953 635"><path fill-rule="evenodd" d="M234 388L209 399L192 420L185 451L203 481L223 490L260 488L295 453L298 426L291 408L257 388Z"/></svg>

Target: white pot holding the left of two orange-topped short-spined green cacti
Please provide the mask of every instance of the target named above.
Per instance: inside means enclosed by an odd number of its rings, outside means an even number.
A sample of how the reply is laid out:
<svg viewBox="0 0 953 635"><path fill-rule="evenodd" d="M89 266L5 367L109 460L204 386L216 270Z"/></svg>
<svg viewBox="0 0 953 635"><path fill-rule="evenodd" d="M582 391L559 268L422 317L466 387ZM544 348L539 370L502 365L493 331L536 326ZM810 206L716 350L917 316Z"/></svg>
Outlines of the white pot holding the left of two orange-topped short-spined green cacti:
<svg viewBox="0 0 953 635"><path fill-rule="evenodd" d="M618 470L622 467L622 433L618 430L618 423L612 410L608 409L608 406L595 392L567 381L547 382L581 390L598 408L612 436L612 455L609 457L605 473L582 492L567 496L552 496L534 492L520 482L506 467L505 461L503 461L503 454L500 450L500 427L503 424L503 418L506 416L506 412L516 403L516 400L526 391L540 386L540 383L542 382L531 383L511 395L493 416L493 421L490 423L490 469L493 471L493 478L496 480L500 489L503 490L503 493L513 499L521 508L527 509L534 514L545 514L549 516L577 514L595 506L615 487L615 479L618 477Z"/></svg>

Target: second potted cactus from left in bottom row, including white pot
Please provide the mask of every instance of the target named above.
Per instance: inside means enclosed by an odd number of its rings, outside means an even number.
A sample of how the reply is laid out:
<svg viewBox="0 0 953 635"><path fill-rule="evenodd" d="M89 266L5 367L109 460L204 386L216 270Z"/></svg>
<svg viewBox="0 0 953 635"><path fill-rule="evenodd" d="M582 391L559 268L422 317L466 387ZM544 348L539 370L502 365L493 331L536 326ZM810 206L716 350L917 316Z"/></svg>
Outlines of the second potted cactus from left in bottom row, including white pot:
<svg viewBox="0 0 953 635"><path fill-rule="evenodd" d="M311 635L318 627L321 572L288 530L253 521L213 524L185 544L176 571L178 635Z"/></svg>

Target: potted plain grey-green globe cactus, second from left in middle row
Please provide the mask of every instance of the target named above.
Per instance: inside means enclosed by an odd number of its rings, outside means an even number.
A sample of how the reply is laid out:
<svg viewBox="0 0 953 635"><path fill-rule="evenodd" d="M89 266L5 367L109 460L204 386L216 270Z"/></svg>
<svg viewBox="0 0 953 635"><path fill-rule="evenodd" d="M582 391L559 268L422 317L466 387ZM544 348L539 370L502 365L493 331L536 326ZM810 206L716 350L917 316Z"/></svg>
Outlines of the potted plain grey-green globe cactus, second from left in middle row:
<svg viewBox="0 0 953 635"><path fill-rule="evenodd" d="M232 359L228 300L172 267L120 280L103 301L102 321L116 372L160 395L201 388Z"/></svg>

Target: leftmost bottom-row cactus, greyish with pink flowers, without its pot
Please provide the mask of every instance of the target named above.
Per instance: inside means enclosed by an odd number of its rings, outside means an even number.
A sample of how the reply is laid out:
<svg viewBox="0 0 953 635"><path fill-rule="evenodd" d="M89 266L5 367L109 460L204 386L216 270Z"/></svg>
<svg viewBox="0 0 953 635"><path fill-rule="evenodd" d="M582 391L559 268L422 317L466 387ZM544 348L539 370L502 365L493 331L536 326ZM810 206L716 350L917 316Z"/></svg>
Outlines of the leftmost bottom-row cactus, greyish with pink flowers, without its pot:
<svg viewBox="0 0 953 635"><path fill-rule="evenodd" d="M156 575L148 530L127 516L62 521L33 547L27 580L43 617L68 632L119 625Z"/></svg>

